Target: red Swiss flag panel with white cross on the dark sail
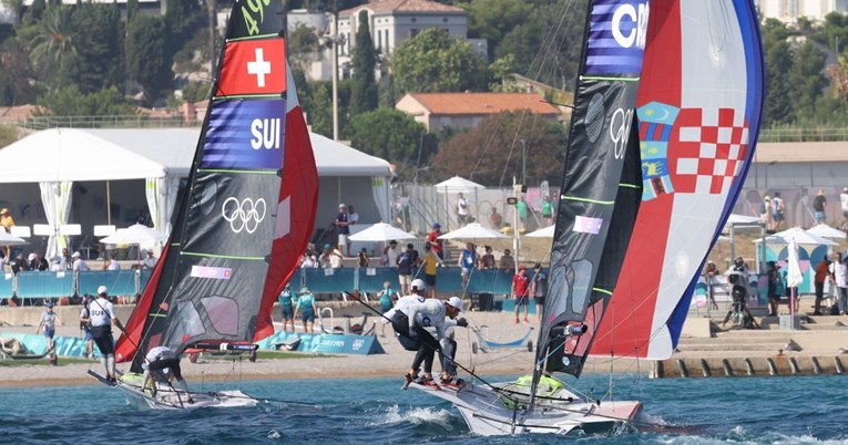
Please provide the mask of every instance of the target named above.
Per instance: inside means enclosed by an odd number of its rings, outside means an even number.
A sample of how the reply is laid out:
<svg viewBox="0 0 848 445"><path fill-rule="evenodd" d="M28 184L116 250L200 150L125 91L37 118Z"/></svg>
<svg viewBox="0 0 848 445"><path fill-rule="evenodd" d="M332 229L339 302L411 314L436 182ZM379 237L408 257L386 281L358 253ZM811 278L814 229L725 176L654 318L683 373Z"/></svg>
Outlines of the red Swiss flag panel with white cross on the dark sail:
<svg viewBox="0 0 848 445"><path fill-rule="evenodd" d="M279 94L286 91L285 40L227 43L215 96Z"/></svg>

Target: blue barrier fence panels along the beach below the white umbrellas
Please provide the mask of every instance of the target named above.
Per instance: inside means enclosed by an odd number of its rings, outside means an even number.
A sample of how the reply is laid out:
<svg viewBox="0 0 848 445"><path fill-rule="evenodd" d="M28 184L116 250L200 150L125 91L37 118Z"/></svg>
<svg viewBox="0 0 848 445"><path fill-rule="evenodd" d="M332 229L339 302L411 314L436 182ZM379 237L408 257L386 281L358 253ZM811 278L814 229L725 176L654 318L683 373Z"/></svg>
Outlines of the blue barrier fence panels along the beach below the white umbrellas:
<svg viewBox="0 0 848 445"><path fill-rule="evenodd" d="M111 296L137 296L144 290L151 270L92 270L85 272L25 271L6 273L0 279L0 298L43 299L96 294L98 287L109 288ZM532 272L529 273L532 277ZM510 270L472 270L463 292L459 267L441 267L436 273L436 289L441 293L510 294L513 273ZM423 270L415 278L425 279ZM309 288L315 293L340 293L359 289L375 293L388 281L400 292L396 268L297 269L292 277L296 290Z"/></svg>

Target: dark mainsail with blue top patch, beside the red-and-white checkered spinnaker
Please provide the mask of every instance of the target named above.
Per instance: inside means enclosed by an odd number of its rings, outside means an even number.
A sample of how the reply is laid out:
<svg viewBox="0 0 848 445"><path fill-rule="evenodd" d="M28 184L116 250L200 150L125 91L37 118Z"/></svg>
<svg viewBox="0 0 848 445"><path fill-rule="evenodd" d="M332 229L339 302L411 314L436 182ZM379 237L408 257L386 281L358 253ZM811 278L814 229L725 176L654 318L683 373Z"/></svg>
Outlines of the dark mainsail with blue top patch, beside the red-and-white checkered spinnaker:
<svg viewBox="0 0 848 445"><path fill-rule="evenodd" d="M647 17L647 0L589 3L537 350L549 371L580 374L624 259L633 218L619 209L638 205L631 133Z"/></svg>

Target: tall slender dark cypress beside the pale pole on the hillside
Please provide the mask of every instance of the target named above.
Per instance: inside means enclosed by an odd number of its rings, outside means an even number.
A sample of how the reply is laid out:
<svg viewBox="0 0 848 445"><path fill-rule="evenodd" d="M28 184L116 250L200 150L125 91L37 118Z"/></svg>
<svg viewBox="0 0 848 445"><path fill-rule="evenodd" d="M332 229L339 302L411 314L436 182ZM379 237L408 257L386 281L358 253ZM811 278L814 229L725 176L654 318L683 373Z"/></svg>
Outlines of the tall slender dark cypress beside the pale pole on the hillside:
<svg viewBox="0 0 848 445"><path fill-rule="evenodd" d="M374 49L371 30L368 25L368 12L359 12L354 46L354 83L350 92L350 114L354 116L377 107L377 81L374 70L377 66L377 50Z"/></svg>

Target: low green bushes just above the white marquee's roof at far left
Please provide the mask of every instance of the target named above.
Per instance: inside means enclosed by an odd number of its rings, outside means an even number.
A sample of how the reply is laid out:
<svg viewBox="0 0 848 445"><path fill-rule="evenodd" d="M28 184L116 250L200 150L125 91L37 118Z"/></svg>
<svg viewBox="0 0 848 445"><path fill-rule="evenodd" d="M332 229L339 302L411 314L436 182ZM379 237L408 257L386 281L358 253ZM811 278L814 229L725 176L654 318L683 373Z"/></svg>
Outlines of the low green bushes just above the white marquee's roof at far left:
<svg viewBox="0 0 848 445"><path fill-rule="evenodd" d="M52 116L113 116L135 114L133 105L126 102L116 87L104 89L91 94L80 92L70 85L40 96L38 115Z"/></svg>

